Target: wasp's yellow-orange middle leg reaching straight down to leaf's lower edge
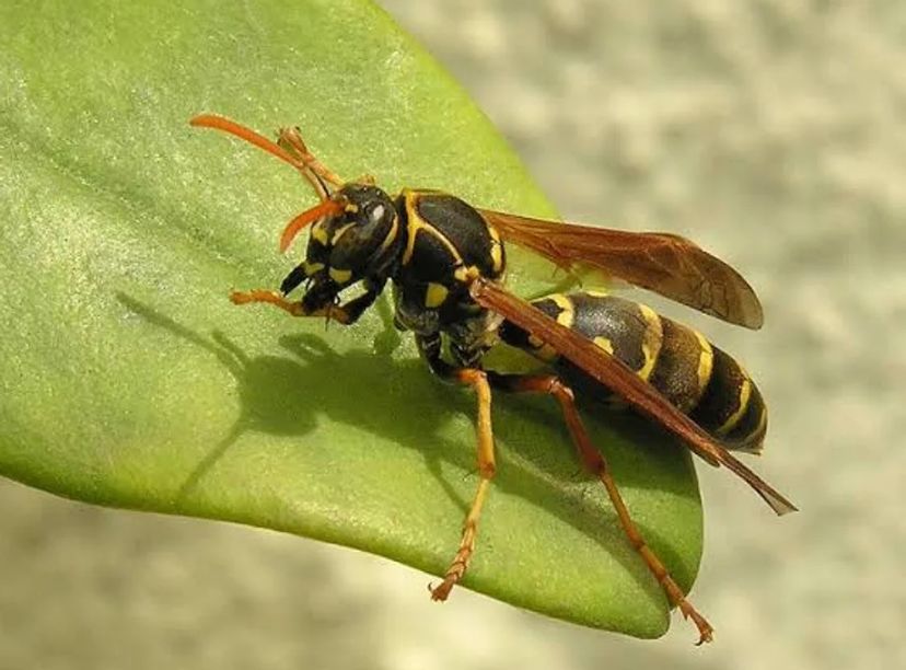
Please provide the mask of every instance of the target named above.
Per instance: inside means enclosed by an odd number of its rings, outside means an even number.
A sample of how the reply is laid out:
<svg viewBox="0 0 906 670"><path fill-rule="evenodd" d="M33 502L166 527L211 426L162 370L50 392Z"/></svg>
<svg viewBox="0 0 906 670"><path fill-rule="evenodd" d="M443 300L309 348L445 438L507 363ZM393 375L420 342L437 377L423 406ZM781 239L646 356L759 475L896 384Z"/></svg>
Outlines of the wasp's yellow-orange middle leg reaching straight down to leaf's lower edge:
<svg viewBox="0 0 906 670"><path fill-rule="evenodd" d="M490 482L497 472L493 458L493 431L491 429L491 391L488 377L484 370L476 368L455 368L440 357L440 335L432 337L416 338L419 350L425 360L431 367L431 371L445 381L472 386L478 400L478 417L476 419L476 431L478 434L478 489L472 499L472 506L463 523L463 534L460 540L460 548L453 557L453 562L443 576L443 581L435 587L430 587L432 600L446 600L450 591L463 579L468 562L475 553L475 538L478 534L478 518L481 516L481 507L485 504Z"/></svg>

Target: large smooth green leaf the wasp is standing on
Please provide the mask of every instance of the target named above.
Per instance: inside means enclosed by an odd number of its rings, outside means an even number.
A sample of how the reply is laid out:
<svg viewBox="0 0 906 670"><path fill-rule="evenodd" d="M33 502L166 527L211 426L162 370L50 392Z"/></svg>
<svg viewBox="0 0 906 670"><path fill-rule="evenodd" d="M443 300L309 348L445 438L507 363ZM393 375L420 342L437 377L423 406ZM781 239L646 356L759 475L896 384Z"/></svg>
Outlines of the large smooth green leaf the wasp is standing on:
<svg viewBox="0 0 906 670"><path fill-rule="evenodd" d="M442 574L477 483L473 396L431 378L385 302L326 331L231 305L231 288L274 287L293 265L277 235L314 200L284 164L187 120L299 125L342 175L550 215L488 120L362 1L4 3L0 38L0 472ZM547 284L538 263L512 265L514 290ZM688 455L604 418L619 429L594 436L630 509L688 586ZM663 633L661 589L555 404L498 396L495 421L499 475L466 586Z"/></svg>

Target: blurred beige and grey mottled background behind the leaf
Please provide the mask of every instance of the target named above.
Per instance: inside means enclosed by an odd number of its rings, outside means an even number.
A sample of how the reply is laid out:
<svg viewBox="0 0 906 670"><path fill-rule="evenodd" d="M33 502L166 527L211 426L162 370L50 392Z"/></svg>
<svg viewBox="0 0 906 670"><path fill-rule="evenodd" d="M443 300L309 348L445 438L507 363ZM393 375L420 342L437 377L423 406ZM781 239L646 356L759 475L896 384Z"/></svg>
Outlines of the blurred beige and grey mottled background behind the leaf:
<svg viewBox="0 0 906 670"><path fill-rule="evenodd" d="M717 637L694 648L677 617L639 642L465 590L437 607L350 550L0 481L0 668L906 667L906 5L382 4L566 218L681 232L753 282L759 333L664 311L758 380L756 466L802 511L699 467Z"/></svg>

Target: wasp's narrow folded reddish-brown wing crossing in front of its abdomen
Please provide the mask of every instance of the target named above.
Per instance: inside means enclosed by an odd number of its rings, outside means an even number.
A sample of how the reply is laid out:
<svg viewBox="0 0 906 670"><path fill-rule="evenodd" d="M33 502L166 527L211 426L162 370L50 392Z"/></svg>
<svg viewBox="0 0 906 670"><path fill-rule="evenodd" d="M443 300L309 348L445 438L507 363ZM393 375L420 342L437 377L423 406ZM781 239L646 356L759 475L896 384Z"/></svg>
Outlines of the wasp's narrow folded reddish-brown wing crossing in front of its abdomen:
<svg viewBox="0 0 906 670"><path fill-rule="evenodd" d="M574 331L557 323L500 285L484 278L472 284L472 297L481 307L500 314L520 328L554 347L585 373L611 389L628 405L680 437L711 465L723 465L755 489L777 515L795 511L792 503L733 457L698 424L680 412L652 385L623 362Z"/></svg>

